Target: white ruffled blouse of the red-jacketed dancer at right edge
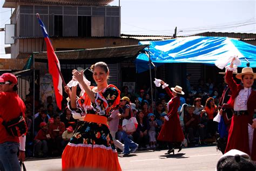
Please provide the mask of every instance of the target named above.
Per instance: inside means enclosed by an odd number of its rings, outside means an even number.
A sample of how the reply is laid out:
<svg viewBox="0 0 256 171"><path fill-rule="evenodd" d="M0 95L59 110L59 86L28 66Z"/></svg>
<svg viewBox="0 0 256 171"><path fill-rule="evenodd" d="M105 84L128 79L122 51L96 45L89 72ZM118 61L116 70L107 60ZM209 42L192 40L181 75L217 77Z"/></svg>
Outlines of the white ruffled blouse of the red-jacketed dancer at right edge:
<svg viewBox="0 0 256 171"><path fill-rule="evenodd" d="M234 111L247 111L247 100L252 92L252 88L241 89L238 96L234 99Z"/></svg>

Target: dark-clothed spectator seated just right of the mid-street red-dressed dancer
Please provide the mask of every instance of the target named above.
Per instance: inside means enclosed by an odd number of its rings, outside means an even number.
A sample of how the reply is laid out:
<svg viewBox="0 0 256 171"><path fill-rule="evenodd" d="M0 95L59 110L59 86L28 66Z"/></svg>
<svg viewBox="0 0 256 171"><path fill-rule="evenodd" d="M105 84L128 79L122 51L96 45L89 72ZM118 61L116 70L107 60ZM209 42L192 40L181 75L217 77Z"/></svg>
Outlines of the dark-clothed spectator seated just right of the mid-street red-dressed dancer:
<svg viewBox="0 0 256 171"><path fill-rule="evenodd" d="M187 114L184 115L185 130L188 134L189 142L196 143L196 135L198 131L199 118L194 114L194 107L188 105L186 107Z"/></svg>

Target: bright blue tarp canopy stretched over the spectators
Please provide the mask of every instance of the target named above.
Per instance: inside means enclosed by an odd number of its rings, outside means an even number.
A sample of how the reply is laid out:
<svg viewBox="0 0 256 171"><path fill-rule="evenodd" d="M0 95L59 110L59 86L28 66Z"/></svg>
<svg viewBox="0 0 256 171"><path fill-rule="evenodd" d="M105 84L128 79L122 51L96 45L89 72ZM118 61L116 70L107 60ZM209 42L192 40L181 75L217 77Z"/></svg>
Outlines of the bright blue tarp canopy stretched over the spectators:
<svg viewBox="0 0 256 171"><path fill-rule="evenodd" d="M201 63L214 65L214 61L230 56L238 56L239 67L246 67L246 58L251 67L256 67L256 46L228 37L180 37L162 41L143 41L140 45L149 45L144 51L149 53L156 65L165 63ZM152 66L152 65L151 65ZM149 57L140 53L136 58L137 72L149 70ZM152 68L152 67L151 67Z"/></svg>

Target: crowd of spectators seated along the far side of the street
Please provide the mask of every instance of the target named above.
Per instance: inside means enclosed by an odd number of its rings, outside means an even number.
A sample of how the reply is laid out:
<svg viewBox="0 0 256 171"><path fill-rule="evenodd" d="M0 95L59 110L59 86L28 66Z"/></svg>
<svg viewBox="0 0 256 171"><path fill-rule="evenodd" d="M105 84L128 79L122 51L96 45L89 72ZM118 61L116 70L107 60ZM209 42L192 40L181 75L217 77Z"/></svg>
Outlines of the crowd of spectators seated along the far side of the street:
<svg viewBox="0 0 256 171"><path fill-rule="evenodd" d="M218 129L213 118L218 112L219 94L222 93L225 84L223 81L215 85L211 79L204 83L199 79L198 85L194 86L190 84L190 77L188 74L186 88L184 87L185 95L180 97L180 125L188 146L206 145L215 142ZM152 100L150 89L144 88L137 93L130 93L127 86L122 88L121 98L130 99L132 115L138 122L136 132L130 134L129 138L139 145L139 149L166 148L165 143L157 141L157 136L168 113L167 103L170 99L160 88L154 91L157 92L157 97ZM66 105L62 111L58 110L51 96L47 98L45 104L37 104L35 115L32 114L32 104L32 96L26 95L25 119L29 128L26 136L26 155L32 156L33 151L35 156L61 155L72 138L77 120L73 119ZM119 108L122 108L122 105ZM118 142L123 142L122 119L119 119L119 125L113 132ZM122 147L122 143L119 144Z"/></svg>

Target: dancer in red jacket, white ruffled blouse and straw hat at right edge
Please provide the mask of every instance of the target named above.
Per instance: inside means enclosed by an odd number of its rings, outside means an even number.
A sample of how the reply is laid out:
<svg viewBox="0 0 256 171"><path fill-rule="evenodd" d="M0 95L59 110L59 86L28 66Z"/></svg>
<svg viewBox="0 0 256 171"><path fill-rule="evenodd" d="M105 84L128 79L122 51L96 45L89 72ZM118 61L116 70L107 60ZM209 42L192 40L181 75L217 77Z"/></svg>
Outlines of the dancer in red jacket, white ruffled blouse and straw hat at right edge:
<svg viewBox="0 0 256 171"><path fill-rule="evenodd" d="M233 59L234 60L234 59ZM233 60L230 67L227 67L226 81L231 88L232 95L228 104L234 108L234 114L231 121L230 131L226 152L231 149L238 149L251 156L256 161L256 119L253 119L253 112L256 109L256 91L252 90L256 73L253 73L251 67L245 67L242 72L235 77L241 79L243 84L236 84L233 77ZM248 127L249 126L249 127ZM254 129L253 140L248 138L248 129Z"/></svg>

